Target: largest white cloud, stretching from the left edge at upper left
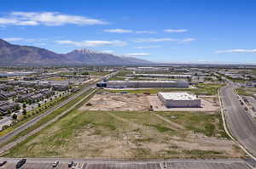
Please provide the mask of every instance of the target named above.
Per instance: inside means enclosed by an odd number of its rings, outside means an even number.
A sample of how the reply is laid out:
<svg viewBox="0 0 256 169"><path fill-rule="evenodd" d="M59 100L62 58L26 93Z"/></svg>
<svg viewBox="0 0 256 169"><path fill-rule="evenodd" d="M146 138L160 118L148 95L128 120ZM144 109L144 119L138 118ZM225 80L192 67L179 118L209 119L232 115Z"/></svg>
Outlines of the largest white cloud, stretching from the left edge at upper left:
<svg viewBox="0 0 256 169"><path fill-rule="evenodd" d="M0 25L105 25L108 22L58 12L12 12L0 17Z"/></svg>

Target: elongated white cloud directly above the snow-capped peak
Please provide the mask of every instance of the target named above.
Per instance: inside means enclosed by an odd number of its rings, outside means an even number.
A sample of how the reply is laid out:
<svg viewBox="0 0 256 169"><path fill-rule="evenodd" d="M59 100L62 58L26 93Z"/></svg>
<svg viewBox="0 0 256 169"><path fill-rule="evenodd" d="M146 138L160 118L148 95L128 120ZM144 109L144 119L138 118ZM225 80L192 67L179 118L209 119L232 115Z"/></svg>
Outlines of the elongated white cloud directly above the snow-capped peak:
<svg viewBox="0 0 256 169"><path fill-rule="evenodd" d="M99 47L99 46L125 46L126 43L119 40L114 41L55 41L59 44L70 44L78 47Z"/></svg>

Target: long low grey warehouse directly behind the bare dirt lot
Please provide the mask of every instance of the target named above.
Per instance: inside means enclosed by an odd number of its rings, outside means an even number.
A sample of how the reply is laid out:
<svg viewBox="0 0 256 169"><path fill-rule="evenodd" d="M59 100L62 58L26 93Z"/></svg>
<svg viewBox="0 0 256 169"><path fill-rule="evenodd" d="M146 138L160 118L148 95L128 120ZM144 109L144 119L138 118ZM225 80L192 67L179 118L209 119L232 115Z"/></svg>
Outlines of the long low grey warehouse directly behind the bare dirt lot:
<svg viewBox="0 0 256 169"><path fill-rule="evenodd" d="M189 87L189 83L174 81L109 81L107 82L107 87Z"/></svg>

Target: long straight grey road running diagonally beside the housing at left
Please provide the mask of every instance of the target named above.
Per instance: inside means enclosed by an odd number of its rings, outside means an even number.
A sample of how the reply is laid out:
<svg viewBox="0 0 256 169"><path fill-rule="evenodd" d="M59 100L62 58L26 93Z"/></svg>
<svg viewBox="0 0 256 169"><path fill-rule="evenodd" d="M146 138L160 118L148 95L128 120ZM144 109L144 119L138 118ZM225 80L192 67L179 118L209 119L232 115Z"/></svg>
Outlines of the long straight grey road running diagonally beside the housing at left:
<svg viewBox="0 0 256 169"><path fill-rule="evenodd" d="M116 74L117 72L114 72L114 74ZM105 76L105 77L109 77L109 75ZM103 79L104 77L102 77ZM95 84L90 85L89 87L85 87L84 89L82 89L81 91L79 91L79 93L74 94L73 96L71 96L70 98L64 100L63 102L61 102L61 104L57 104L55 105L53 108L51 108L50 110L47 110L44 114L42 115L38 115L35 118L33 118L31 121L26 122L25 124L21 125L20 127L15 128L15 130L13 130L12 132L9 132L8 134L0 137L0 144L6 143L9 141L9 139L15 137L15 135L17 135L18 133L26 130L26 128L28 127L32 127L34 124L36 124L38 121L40 121L42 118L44 118L46 115L51 114L52 112L54 112L55 110L61 108L63 105L67 104L69 101L79 97L79 95L83 94L84 92L88 91L90 88L95 87Z"/></svg>

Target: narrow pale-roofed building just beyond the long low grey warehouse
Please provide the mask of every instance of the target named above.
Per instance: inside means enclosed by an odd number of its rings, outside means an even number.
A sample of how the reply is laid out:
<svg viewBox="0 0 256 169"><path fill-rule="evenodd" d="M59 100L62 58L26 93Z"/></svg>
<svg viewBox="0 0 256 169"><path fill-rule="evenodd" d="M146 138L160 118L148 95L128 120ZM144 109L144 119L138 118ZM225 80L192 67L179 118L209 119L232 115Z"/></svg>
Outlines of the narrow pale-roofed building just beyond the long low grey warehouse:
<svg viewBox="0 0 256 169"><path fill-rule="evenodd" d="M131 74L127 76L140 76L140 77L158 77L158 78L172 78L172 79L189 79L191 75L170 75L170 74Z"/></svg>

